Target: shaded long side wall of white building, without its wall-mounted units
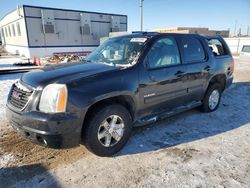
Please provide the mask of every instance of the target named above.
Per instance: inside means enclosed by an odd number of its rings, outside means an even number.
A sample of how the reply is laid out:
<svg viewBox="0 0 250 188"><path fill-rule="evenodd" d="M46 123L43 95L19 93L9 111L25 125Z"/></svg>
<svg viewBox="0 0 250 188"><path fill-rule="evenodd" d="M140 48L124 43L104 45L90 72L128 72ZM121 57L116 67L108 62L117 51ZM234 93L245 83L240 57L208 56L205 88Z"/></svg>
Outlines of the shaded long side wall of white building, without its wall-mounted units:
<svg viewBox="0 0 250 188"><path fill-rule="evenodd" d="M109 35L111 29L110 14L88 13L91 18L91 34L80 34L80 13L77 11L50 9L55 17L55 34L42 33L41 9L26 7L27 28L30 46L71 46L99 45L100 37ZM84 11L83 11L84 13ZM120 22L120 31L126 31L126 16L116 16Z"/></svg>

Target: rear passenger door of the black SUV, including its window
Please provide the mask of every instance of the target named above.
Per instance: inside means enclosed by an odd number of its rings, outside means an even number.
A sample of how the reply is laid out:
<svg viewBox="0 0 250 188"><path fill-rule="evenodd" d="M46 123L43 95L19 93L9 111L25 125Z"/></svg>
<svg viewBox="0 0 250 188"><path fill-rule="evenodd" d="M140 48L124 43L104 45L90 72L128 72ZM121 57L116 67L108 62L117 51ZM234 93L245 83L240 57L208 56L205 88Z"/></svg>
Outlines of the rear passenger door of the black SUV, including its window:
<svg viewBox="0 0 250 188"><path fill-rule="evenodd" d="M205 92L206 81L212 68L205 41L198 35L181 35L178 37L178 43L186 73L183 80L186 88L184 102L199 101Z"/></svg>

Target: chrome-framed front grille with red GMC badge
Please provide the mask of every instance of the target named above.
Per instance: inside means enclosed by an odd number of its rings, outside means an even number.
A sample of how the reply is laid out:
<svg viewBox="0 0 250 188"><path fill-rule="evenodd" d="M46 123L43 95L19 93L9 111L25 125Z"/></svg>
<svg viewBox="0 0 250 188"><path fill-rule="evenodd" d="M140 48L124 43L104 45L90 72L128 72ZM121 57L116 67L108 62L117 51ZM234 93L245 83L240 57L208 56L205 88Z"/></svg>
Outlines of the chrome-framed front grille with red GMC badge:
<svg viewBox="0 0 250 188"><path fill-rule="evenodd" d="M33 90L17 82L13 84L10 90L8 102L11 106L17 108L18 110L23 110L28 104L32 93Z"/></svg>

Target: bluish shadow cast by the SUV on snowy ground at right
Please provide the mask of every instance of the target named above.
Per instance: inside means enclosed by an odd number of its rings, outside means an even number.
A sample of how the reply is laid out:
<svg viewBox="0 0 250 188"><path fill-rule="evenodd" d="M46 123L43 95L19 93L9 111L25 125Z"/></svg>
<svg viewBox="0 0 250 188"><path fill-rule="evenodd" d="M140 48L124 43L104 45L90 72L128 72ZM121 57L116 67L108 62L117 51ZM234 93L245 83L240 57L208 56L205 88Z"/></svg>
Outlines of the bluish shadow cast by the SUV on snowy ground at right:
<svg viewBox="0 0 250 188"><path fill-rule="evenodd" d="M250 124L250 82L234 83L212 113L193 109L157 123L135 128L117 156L138 154L193 142ZM248 124L248 125L247 125Z"/></svg>

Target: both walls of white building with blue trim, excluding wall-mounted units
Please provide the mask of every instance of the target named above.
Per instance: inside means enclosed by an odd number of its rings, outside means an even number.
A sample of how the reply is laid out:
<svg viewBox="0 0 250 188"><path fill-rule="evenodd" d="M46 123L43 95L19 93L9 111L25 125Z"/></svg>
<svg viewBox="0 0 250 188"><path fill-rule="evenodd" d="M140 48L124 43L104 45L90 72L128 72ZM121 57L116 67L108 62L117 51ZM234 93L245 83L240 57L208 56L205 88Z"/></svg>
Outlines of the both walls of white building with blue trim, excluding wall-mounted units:
<svg viewBox="0 0 250 188"><path fill-rule="evenodd" d="M55 31L57 34L42 32L41 9L53 10L55 16ZM6 37L7 51L31 57L52 55L53 50L76 51L77 49L94 49L99 45L100 37L108 36L111 29L111 16L120 17L120 30L127 31L127 16L89 11L55 9L23 5L23 17L14 10L0 20L0 28L20 23L21 36ZM80 13L91 15L91 35L80 35ZM32 52L31 52L32 51ZM41 52L41 54L40 54Z"/></svg>

